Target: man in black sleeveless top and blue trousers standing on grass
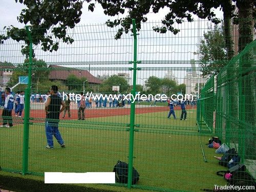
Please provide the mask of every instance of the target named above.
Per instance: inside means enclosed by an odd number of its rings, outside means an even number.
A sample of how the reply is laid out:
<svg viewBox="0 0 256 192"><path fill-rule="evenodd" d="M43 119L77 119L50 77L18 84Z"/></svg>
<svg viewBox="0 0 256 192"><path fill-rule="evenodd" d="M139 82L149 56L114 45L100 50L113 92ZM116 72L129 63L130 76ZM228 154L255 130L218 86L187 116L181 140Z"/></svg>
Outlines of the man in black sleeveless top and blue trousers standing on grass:
<svg viewBox="0 0 256 192"><path fill-rule="evenodd" d="M46 148L53 148L53 137L57 139L61 147L65 147L64 141L58 130L59 114L66 108L65 102L57 95L58 87L52 86L50 94L46 101L46 138L48 145ZM60 109L60 105L62 108Z"/></svg>

